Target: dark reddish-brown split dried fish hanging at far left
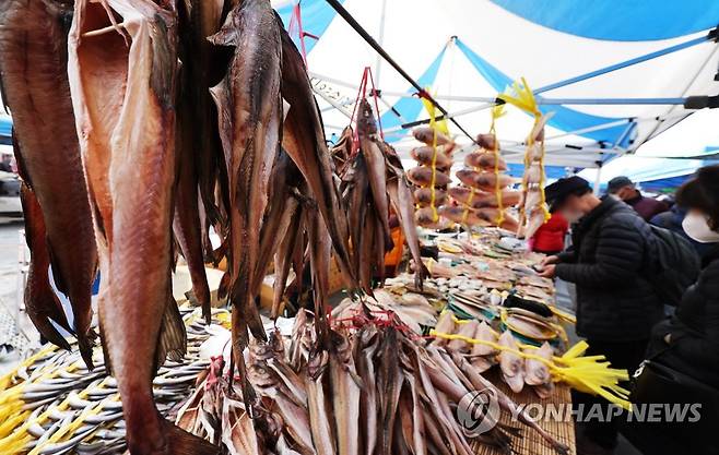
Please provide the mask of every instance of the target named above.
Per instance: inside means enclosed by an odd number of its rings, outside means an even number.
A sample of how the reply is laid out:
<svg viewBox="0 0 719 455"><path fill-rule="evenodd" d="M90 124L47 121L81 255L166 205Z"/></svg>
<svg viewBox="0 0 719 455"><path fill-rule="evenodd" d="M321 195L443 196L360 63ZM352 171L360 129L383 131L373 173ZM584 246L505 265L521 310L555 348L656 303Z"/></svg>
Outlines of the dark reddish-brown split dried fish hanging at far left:
<svg viewBox="0 0 719 455"><path fill-rule="evenodd" d="M97 251L93 234L87 185L83 175L80 145L68 82L68 29L72 7L66 2L10 0L0 4L0 72L2 99L10 107L15 136L14 153L25 184L36 199L26 204L34 229L46 231L46 240L35 240L37 259L49 253L52 277L72 306L74 332L85 363L92 368L91 286L96 275ZM108 96L108 86L101 96ZM117 92L117 91L116 91ZM115 95L115 94L113 94ZM93 188L93 192L99 191ZM37 209L39 208L38 212ZM39 219L43 218L43 219ZM37 235L38 231L30 231ZM46 248L39 244L46 242ZM38 264L33 267L37 271ZM40 273L42 274L42 273ZM40 314L56 314L55 299L46 279L35 274L28 298L36 310L38 330L48 339L67 347ZM60 319L58 316L58 319ZM60 321L61 322L61 321ZM67 324L66 324L67 325Z"/></svg>

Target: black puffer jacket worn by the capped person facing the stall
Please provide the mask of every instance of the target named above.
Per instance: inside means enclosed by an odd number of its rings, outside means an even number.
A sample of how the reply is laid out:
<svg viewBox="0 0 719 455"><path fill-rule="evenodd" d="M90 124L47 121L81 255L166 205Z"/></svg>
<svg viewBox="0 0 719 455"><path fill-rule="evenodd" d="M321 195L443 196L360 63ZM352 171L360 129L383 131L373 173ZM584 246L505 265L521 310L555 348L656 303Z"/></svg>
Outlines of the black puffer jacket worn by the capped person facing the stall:
<svg viewBox="0 0 719 455"><path fill-rule="evenodd" d="M651 238L646 221L611 196L575 226L574 249L559 254L555 275L577 286L579 336L599 342L649 339L651 327L663 315L653 287L644 277L650 266Z"/></svg>

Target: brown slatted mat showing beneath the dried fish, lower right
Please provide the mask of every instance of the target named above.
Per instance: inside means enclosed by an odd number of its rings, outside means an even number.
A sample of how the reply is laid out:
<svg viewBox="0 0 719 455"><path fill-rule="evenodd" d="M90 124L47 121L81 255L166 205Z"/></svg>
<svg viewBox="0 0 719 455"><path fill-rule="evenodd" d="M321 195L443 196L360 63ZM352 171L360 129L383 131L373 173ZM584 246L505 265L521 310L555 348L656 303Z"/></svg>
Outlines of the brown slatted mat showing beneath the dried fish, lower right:
<svg viewBox="0 0 719 455"><path fill-rule="evenodd" d="M493 373L495 372L493 371ZM509 397L517 404L529 405L537 403L541 405L554 404L555 406L566 406L571 403L571 394L569 393L570 388L567 385L557 384L554 388L554 394L547 399L542 399L537 396L530 387L524 387L520 394L510 392L507 385L497 376L498 375L496 374L488 374L488 379L491 379L494 384L497 384L498 388L507 393L507 395L509 395ZM537 431L523 423L511 421L511 416L508 412L502 412L500 422L521 429L521 436L512 438L512 455L556 455L556 451L554 451L554 448L552 448L542 436L537 434ZM569 418L568 421L561 422L555 421L555 419L546 419L540 420L538 423L559 442L567 444L569 446L570 455L576 455L574 421L571 418ZM472 450L476 455L504 455L500 451L480 443L476 443Z"/></svg>

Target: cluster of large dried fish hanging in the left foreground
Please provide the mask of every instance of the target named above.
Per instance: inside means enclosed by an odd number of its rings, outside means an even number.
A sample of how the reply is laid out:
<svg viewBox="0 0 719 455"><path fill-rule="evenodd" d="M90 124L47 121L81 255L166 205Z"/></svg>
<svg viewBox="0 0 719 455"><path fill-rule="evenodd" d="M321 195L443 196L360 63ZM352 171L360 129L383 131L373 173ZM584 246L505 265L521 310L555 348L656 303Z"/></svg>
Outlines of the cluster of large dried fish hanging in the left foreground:
<svg viewBox="0 0 719 455"><path fill-rule="evenodd" d="M272 256L286 277L291 266L302 276L307 254L323 302L333 249L346 287L357 287L303 59L269 0L72 3L0 4L3 99L33 250L26 304L54 343L69 347L50 320L71 328L92 368L99 266L105 366L117 378L130 451L215 453L153 403L157 368L186 350L170 292L174 246L208 322L204 260L227 260L221 294L234 309L234 362L248 400L243 350L250 332L266 338L255 296ZM222 238L217 250L210 230ZM72 303L72 327L48 263ZM285 283L276 283L279 306Z"/></svg>

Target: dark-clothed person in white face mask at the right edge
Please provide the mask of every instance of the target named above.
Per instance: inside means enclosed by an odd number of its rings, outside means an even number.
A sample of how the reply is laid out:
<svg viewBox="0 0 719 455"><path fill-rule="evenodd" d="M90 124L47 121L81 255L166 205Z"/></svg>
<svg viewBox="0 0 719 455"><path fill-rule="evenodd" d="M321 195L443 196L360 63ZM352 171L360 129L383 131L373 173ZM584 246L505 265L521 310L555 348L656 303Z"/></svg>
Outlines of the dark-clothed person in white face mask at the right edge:
<svg viewBox="0 0 719 455"><path fill-rule="evenodd" d="M709 249L697 282L673 316L651 332L632 402L696 406L695 422L632 423L623 433L645 454L717 455L719 428L719 166L705 167L676 193L682 227Z"/></svg>

